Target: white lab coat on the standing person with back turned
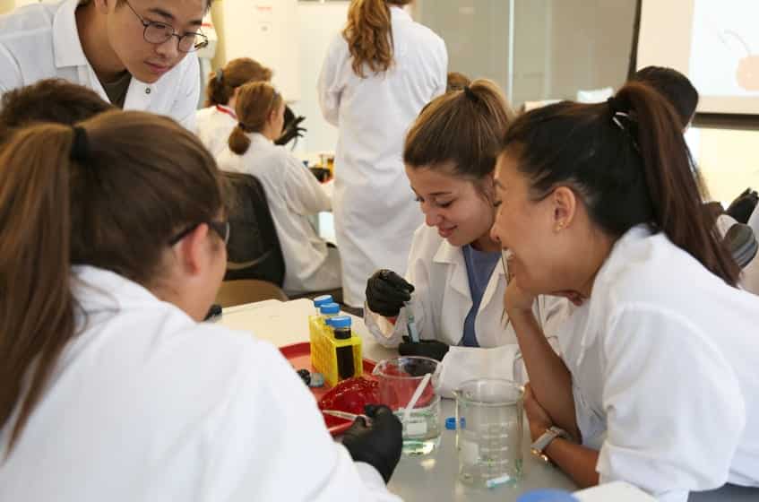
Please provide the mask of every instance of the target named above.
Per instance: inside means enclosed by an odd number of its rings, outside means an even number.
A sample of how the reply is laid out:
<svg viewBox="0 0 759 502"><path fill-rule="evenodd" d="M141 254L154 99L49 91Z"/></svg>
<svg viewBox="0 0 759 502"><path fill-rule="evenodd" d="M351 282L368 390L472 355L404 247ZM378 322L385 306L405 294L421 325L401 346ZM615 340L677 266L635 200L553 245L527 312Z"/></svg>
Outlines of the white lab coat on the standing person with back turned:
<svg viewBox="0 0 759 502"><path fill-rule="evenodd" d="M443 39L391 6L394 64L359 78L348 43L332 40L319 75L322 113L340 136L335 152L335 237L342 255L343 299L364 303L367 279L379 268L403 273L411 238L422 222L403 170L403 139L427 102L445 91Z"/></svg>

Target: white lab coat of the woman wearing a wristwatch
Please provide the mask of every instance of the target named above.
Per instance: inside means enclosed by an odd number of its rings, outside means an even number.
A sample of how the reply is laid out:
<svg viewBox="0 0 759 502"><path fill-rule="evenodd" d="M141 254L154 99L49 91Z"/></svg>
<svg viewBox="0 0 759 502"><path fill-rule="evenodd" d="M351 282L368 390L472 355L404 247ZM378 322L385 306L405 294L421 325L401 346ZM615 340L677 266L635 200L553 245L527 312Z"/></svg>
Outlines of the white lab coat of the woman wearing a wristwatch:
<svg viewBox="0 0 759 502"><path fill-rule="evenodd" d="M660 500L759 486L759 298L663 234L630 229L559 334L600 481Z"/></svg>

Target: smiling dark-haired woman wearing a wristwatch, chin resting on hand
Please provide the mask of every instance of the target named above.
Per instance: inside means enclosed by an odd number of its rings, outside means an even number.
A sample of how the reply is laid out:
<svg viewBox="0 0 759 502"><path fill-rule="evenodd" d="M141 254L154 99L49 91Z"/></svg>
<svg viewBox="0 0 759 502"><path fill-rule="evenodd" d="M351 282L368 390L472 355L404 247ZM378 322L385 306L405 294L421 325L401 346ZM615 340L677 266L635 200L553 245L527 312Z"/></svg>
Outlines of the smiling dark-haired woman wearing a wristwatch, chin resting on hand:
<svg viewBox="0 0 759 502"><path fill-rule="evenodd" d="M702 216L673 108L631 82L530 111L502 148L493 237L513 252L533 448L581 486L626 480L660 501L759 487L759 299ZM580 305L563 360L531 309L550 293Z"/></svg>

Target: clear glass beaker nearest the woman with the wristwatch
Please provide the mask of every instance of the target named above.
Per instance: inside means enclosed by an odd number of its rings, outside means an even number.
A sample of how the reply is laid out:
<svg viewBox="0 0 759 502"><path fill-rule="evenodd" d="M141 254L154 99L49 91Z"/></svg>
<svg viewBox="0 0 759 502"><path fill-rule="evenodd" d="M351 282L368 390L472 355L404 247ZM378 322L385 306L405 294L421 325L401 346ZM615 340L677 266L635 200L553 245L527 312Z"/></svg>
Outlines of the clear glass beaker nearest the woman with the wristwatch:
<svg viewBox="0 0 759 502"><path fill-rule="evenodd" d="M522 478L524 387L511 380L463 382L456 396L459 479L494 488Z"/></svg>

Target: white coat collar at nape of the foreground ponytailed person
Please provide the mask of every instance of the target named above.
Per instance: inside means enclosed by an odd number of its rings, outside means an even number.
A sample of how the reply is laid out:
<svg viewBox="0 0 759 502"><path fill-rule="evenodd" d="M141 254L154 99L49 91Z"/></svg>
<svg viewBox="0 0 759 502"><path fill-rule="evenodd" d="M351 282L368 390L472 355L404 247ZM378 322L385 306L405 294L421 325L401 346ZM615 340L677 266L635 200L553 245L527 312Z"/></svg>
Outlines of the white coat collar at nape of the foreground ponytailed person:
<svg viewBox="0 0 759 502"><path fill-rule="evenodd" d="M72 281L73 296L88 313L160 303L142 285L91 265L74 265Z"/></svg>

